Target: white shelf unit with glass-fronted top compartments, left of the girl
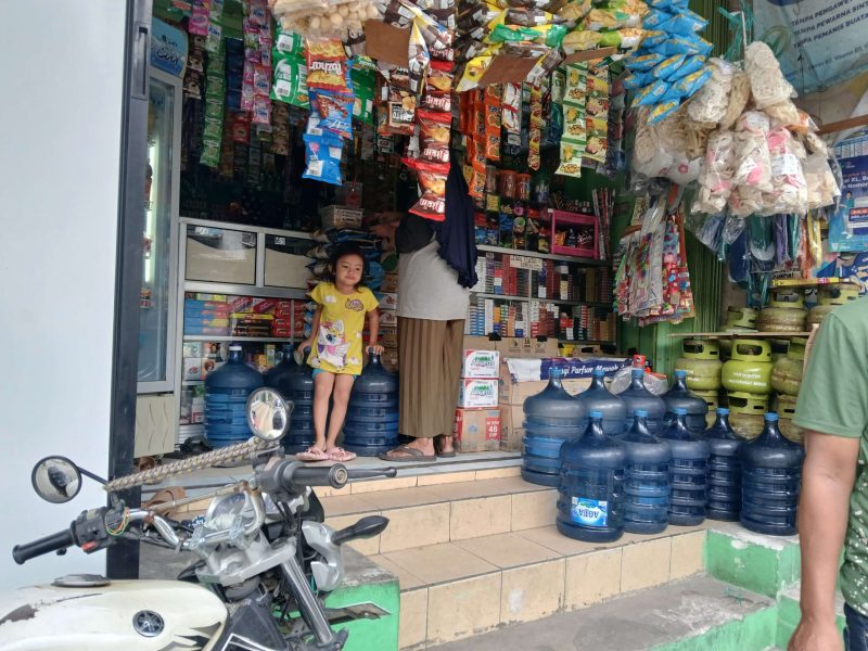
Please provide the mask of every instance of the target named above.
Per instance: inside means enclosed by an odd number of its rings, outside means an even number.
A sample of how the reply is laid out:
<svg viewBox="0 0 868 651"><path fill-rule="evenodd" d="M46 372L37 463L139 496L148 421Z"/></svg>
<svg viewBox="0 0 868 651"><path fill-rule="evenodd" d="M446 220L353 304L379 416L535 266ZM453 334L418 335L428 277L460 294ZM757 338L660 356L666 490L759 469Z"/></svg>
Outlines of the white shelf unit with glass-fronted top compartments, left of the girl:
<svg viewBox="0 0 868 651"><path fill-rule="evenodd" d="M310 234L203 219L180 219L176 443L204 435L205 378L230 344L263 372L281 344L305 336Z"/></svg>

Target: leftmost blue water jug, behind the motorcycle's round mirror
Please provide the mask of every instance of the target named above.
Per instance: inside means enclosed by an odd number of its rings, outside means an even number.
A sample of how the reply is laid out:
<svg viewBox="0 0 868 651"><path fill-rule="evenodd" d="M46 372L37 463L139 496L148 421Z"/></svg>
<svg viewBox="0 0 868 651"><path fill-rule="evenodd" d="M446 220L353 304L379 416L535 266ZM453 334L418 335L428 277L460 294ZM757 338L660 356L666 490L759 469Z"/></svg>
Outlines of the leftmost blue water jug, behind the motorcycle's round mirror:
<svg viewBox="0 0 868 651"><path fill-rule="evenodd" d="M247 396L263 386L263 376L241 357L241 346L229 346L229 359L205 378L205 438L212 447L247 441Z"/></svg>

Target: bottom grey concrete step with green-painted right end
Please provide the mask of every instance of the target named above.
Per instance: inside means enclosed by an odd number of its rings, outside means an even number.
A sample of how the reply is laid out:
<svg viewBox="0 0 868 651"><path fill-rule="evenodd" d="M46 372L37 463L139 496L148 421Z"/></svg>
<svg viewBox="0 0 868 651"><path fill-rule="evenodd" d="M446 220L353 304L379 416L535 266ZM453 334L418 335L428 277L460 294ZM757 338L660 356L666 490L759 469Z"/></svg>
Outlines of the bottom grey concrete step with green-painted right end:
<svg viewBox="0 0 868 651"><path fill-rule="evenodd" d="M774 600L695 576L446 644L437 651L765 651Z"/></svg>

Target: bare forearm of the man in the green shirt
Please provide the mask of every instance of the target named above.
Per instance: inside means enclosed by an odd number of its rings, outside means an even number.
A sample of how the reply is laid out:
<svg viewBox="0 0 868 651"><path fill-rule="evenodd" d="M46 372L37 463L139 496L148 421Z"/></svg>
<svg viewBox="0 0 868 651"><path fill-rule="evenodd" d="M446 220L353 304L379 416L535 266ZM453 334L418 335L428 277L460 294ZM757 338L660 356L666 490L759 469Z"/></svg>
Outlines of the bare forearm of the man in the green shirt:
<svg viewBox="0 0 868 651"><path fill-rule="evenodd" d="M799 536L802 546L802 621L790 651L841 649L835 626L838 561L856 476L859 439L808 431L802 469Z"/></svg>

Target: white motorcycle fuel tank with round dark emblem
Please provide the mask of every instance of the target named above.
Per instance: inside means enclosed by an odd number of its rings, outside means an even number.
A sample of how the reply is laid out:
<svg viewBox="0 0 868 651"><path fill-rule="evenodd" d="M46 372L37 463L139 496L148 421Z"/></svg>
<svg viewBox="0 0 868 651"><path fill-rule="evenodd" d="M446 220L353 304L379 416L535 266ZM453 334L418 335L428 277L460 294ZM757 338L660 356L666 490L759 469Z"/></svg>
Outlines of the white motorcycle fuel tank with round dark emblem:
<svg viewBox="0 0 868 651"><path fill-rule="evenodd" d="M206 651L227 618L222 601L194 584L58 583L87 582L59 579L0 595L0 650Z"/></svg>

